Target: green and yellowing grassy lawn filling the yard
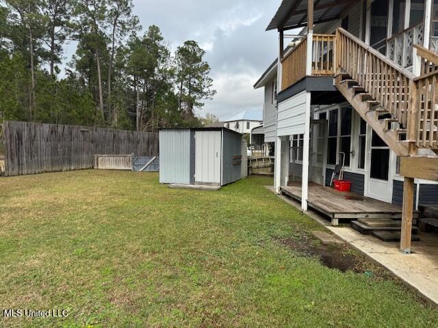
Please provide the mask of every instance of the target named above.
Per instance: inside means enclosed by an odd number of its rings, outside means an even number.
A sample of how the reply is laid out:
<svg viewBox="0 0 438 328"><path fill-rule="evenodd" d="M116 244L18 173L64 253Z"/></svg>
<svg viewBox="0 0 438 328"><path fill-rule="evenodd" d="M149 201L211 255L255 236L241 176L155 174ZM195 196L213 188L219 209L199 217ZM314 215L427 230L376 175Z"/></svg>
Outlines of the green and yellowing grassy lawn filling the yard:
<svg viewBox="0 0 438 328"><path fill-rule="evenodd" d="M396 279L324 267L281 241L320 229L248 178L168 189L157 174L0 179L0 327L438 327ZM370 267L370 270L373 268Z"/></svg>

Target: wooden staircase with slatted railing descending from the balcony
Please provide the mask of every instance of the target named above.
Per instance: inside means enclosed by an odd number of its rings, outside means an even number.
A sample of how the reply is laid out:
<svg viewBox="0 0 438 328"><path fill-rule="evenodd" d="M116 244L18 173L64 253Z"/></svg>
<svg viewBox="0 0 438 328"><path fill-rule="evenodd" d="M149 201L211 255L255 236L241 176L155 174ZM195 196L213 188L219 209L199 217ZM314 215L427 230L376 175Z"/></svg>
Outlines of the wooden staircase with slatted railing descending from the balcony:
<svg viewBox="0 0 438 328"><path fill-rule="evenodd" d="M336 43L335 86L387 146L398 156L420 148L438 152L436 55L421 49L416 78L344 29Z"/></svg>

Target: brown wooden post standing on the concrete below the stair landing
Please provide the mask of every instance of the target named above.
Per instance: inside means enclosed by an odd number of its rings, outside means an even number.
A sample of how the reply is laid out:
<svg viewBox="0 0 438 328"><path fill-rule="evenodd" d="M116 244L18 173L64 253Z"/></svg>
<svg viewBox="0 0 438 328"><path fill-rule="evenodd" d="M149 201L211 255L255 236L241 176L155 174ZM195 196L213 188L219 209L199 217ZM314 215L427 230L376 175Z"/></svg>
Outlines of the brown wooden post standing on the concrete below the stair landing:
<svg viewBox="0 0 438 328"><path fill-rule="evenodd" d="M414 179L405 177L403 184L402 233L400 236L400 251L404 254L411 254L413 188Z"/></svg>

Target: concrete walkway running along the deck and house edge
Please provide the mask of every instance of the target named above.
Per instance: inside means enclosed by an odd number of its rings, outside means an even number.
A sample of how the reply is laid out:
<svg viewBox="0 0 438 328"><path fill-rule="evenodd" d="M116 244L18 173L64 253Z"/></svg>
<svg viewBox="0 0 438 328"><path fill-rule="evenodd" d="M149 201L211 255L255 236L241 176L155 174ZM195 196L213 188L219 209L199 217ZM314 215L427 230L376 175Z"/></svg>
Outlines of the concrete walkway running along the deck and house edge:
<svg viewBox="0 0 438 328"><path fill-rule="evenodd" d="M268 187L274 191L272 187ZM282 200L300 208L300 204L289 197L279 195ZM429 301L438 305L438 235L419 232L420 241L412 242L413 254L402 254L399 243L384 243L370 235L363 235L350 226L333 227L324 215L308 210L309 215L336 236L386 267L403 282L415 288Z"/></svg>

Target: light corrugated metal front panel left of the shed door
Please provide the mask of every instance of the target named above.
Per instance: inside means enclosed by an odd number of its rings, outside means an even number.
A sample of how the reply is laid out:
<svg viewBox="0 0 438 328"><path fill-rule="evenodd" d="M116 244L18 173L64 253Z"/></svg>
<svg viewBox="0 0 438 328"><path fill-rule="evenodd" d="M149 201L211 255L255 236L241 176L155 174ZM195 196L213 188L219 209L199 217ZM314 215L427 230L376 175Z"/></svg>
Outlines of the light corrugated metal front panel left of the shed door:
<svg viewBox="0 0 438 328"><path fill-rule="evenodd" d="M190 184L190 130L159 131L159 182Z"/></svg>

